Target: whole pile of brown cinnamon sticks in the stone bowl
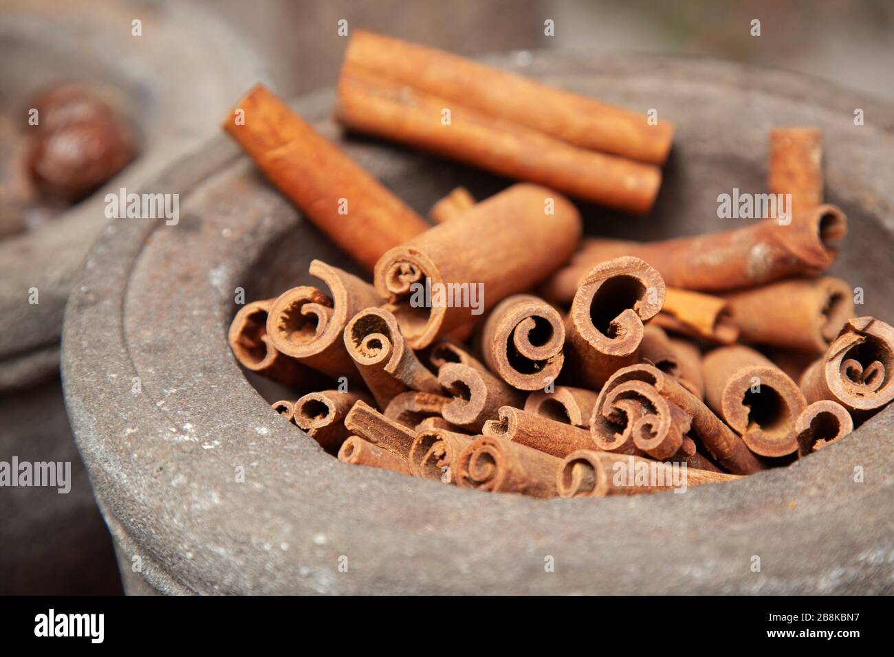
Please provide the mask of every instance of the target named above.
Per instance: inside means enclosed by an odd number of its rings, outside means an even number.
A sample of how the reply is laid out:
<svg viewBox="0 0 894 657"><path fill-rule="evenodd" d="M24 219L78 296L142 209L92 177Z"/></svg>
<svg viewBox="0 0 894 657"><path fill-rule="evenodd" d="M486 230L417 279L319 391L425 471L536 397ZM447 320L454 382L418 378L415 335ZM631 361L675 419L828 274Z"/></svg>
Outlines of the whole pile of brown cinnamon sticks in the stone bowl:
<svg viewBox="0 0 894 657"><path fill-rule="evenodd" d="M276 412L342 461L536 497L652 492L671 483L619 465L730 481L894 399L894 329L821 275L846 218L822 203L819 131L772 134L789 221L638 243L582 239L560 192L648 211L666 122L362 31L336 117L525 181L481 202L454 190L431 225L265 88L227 117L372 274L314 260L318 287L249 303L229 333L242 366L296 390Z"/></svg>

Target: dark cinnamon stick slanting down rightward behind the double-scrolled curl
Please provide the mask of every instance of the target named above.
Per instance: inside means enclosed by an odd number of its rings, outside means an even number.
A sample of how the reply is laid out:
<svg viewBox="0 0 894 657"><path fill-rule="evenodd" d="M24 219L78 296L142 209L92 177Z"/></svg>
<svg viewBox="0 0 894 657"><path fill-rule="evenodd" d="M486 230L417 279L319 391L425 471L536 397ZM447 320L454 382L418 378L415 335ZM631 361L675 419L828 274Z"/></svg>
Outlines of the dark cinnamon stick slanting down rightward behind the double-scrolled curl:
<svg viewBox="0 0 894 657"><path fill-rule="evenodd" d="M704 401L687 391L679 381L664 374L651 365L632 365L611 375L599 393L600 399L607 396L615 386L629 381L641 381L653 386L667 400L672 401L679 409L691 418L689 435L695 436L714 459L725 469L736 475L750 475L762 470L763 462L750 451L738 434L704 405ZM600 402L593 409L594 416L600 413ZM686 441L684 440L684 447Z"/></svg>

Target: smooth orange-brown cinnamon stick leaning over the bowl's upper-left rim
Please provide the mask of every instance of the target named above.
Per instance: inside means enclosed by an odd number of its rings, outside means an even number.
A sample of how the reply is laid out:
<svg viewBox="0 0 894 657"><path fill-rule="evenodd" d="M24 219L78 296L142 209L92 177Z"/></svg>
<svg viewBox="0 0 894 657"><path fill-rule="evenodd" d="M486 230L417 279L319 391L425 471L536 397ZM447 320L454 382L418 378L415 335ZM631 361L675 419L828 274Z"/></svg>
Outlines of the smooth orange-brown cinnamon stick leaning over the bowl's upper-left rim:
<svg viewBox="0 0 894 657"><path fill-rule="evenodd" d="M389 248L428 228L261 85L240 99L223 130L317 228L370 271Z"/></svg>

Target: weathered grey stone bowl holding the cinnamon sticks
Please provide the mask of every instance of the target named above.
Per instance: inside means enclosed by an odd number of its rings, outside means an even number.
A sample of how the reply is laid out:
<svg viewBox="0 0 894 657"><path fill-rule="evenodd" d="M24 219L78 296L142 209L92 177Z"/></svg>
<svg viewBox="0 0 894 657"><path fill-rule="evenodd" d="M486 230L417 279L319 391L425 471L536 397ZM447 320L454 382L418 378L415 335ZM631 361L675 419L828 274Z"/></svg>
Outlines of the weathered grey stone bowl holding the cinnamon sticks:
<svg viewBox="0 0 894 657"><path fill-rule="evenodd" d="M630 219L578 204L595 234L738 225L717 218L717 195L764 190L771 129L822 128L827 199L851 227L832 273L864 288L860 315L891 319L889 107L819 80L702 59L490 61L677 123L654 212ZM332 106L331 91L294 104L421 213L457 184L477 198L509 184L346 137ZM864 126L853 124L855 107ZM261 299L309 282L314 257L353 267L224 137L164 176L181 192L180 223L107 225L63 338L67 408L131 593L890 592L894 409L791 467L686 494L540 501L333 459L269 408L226 333L237 288Z"/></svg>

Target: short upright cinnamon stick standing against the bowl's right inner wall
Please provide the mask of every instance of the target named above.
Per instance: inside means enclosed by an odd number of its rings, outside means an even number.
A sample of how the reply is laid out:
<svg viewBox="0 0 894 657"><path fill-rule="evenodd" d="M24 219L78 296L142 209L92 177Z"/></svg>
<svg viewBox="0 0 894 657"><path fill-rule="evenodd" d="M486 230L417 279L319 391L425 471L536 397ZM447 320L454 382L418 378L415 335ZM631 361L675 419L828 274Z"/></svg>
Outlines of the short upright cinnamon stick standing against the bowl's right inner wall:
<svg viewBox="0 0 894 657"><path fill-rule="evenodd" d="M777 128L770 134L767 187L791 194L790 211L800 215L822 203L822 131Z"/></svg>

